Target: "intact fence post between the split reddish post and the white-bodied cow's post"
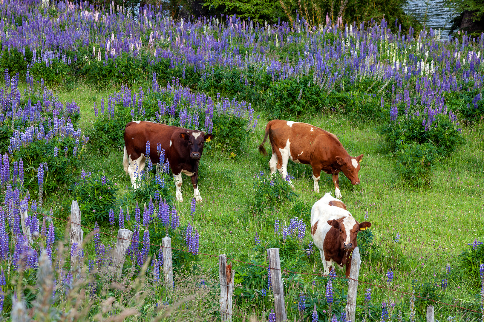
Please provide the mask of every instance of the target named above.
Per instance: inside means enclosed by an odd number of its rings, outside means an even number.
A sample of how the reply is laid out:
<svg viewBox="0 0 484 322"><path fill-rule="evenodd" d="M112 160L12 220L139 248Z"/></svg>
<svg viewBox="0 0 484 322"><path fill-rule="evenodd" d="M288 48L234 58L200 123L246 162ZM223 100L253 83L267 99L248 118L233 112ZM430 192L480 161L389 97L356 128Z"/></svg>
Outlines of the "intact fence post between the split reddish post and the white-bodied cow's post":
<svg viewBox="0 0 484 322"><path fill-rule="evenodd" d="M267 257L271 266L271 285L274 294L275 321L287 320L286 307L284 305L284 289L282 288L281 263L279 262L279 249L268 248Z"/></svg>

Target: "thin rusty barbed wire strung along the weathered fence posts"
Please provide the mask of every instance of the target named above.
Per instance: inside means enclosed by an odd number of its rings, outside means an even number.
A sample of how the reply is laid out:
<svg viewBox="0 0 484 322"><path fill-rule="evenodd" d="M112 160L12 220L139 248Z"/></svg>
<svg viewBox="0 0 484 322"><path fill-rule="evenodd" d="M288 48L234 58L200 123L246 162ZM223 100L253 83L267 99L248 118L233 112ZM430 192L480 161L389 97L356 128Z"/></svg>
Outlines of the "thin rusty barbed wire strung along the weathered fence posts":
<svg viewBox="0 0 484 322"><path fill-rule="evenodd" d="M67 219L62 219L62 218L54 217L54 216L52 216L50 214L49 215L45 215L44 213L41 213L41 212L37 212L37 211L33 211L33 212L34 213L37 213L37 214L40 214L40 215L43 215L43 216L51 217L53 219L57 219L57 220L60 220L60 221L66 222L66 223L77 224L77 223L71 222L70 218L69 218L69 220L67 220ZM90 230L92 229L91 227L88 227L86 225L82 225L82 224L77 224L77 225L79 225L81 227L84 227L84 228L87 228L87 229L90 229ZM95 229L94 231L96 231L96 230L97 230L97 232L99 232L99 233L101 233L101 234L103 234L105 236L112 237L112 238L118 238L118 239L121 239L121 240L128 240L128 241L132 242L132 239L120 238L118 236L114 236L114 235L108 234L106 232L103 232L100 229ZM151 246L156 246L156 247L160 247L160 248L163 248L164 247L164 246L156 245L156 244L153 244L153 243L147 243L147 242L144 242L144 241L137 241L137 243L151 245ZM175 247L166 247L166 248L170 248L172 250L181 251L181 252L190 252L192 254L204 255L204 256L209 256L209 257L215 257L215 258L218 258L219 257L219 255L213 255L213 254L203 253L203 252L194 253L194 252L191 252L191 251L187 251L187 250L183 250L183 249L179 249L179 248L175 248ZM305 272L298 272L298 271L292 271L292 270L280 269L280 268L277 269L277 268L273 268L273 267L269 267L269 266L263 266L263 265L259 265L259 264L255 264L255 263L248 263L248 262L244 262L244 261L239 260L239 259L229 258L229 257L227 257L227 261L239 262L239 263L242 263L242 264L247 264L247 265L252 265L252 266L258 266L258 267L266 268L266 269L281 270L281 273L282 272L287 272L287 273L303 274L303 275L312 275L312 276L319 276L319 277L331 277L331 278L336 278L338 280L354 280L354 281L359 282L359 283L363 283L363 284L366 284L366 285L371 285L371 286L374 286L374 287L377 287L377 288L380 288L380 289L385 289L385 290L389 290L389 291L396 292L396 293L400 293L400 294L410 295L410 296L413 296L415 298L421 298L421 299L424 299L424 300L427 300L427 301L430 301L430 302L433 302L433 303L438 303L438 304L442 304L442 305L449 306L449 307L453 307L453 308L460 308L460 309L467 310L469 312L482 313L480 311L473 310L473 309L470 309L470 308L464 308L464 307L461 307L461 306L458 306L458 305L444 303L444 302L437 301L437 300L434 300L434 299L430 299L430 298L427 298L427 297L423 297L423 296L420 296L420 295L415 295L415 294L412 294L412 293L408 293L408 292L404 292L404 291L399 291L399 290L396 290L396 289L392 289L390 287L381 286L381 285L378 285L378 284L374 284L374 283L370 283L370 282L365 282L365 281L362 281L362 280L356 280L356 279L352 279L352 278L349 278L349 277L348 278L343 278L343 277L338 277L338 276L334 277L334 276L331 276L331 275L328 275L328 274L305 273ZM251 289L251 288L248 288L248 289ZM251 290L260 291L260 290L257 290L257 289L251 289ZM295 294L286 294L286 293L283 293L283 294L288 295L288 296L299 296L299 295L295 295ZM325 299L321 299L321 298L314 298L314 299L317 299L317 300L325 300ZM357 307L357 305L355 305L355 306Z"/></svg>

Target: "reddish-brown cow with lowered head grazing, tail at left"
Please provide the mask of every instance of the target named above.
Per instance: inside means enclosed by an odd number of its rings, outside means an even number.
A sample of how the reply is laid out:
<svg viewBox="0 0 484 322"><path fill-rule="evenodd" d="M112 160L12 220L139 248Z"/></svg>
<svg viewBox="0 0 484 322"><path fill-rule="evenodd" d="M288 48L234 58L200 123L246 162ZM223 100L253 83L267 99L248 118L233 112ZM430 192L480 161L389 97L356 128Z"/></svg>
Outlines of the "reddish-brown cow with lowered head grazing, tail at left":
<svg viewBox="0 0 484 322"><path fill-rule="evenodd" d="M264 143L269 137L272 158L269 167L272 174L279 170L286 179L287 162L309 164L313 168L314 191L319 192L321 170L333 175L335 195L341 198L338 173L343 172L352 184L360 184L358 171L363 154L352 157L346 152L338 138L317 126L283 120L267 123L266 135L259 145L259 152L267 155ZM294 185L289 181L291 187Z"/></svg>

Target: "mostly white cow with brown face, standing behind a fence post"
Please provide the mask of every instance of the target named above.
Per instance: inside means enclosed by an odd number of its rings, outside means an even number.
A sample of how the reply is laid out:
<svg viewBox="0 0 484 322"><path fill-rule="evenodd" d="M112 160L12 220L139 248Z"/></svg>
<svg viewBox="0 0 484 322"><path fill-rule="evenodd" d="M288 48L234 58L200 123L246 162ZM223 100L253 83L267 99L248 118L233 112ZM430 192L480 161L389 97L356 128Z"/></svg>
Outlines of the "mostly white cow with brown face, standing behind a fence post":
<svg viewBox="0 0 484 322"><path fill-rule="evenodd" d="M371 223L358 223L346 205L326 193L311 209L311 236L319 248L324 274L329 274L333 263L339 268L346 265L346 277L351 268L351 256L357 245L358 231L369 228Z"/></svg>

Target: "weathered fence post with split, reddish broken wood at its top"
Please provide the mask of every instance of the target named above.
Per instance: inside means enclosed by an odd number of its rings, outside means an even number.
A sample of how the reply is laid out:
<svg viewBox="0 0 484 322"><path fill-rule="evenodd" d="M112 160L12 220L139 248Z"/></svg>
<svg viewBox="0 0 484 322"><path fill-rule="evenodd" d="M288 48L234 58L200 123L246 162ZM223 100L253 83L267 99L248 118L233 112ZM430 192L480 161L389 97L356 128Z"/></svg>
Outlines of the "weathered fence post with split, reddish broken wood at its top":
<svg viewBox="0 0 484 322"><path fill-rule="evenodd" d="M227 265L227 255L218 255L218 273L220 278L220 316L222 321L232 321L232 295L234 294L235 271Z"/></svg>

